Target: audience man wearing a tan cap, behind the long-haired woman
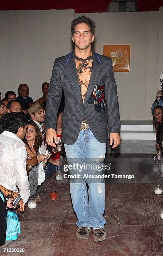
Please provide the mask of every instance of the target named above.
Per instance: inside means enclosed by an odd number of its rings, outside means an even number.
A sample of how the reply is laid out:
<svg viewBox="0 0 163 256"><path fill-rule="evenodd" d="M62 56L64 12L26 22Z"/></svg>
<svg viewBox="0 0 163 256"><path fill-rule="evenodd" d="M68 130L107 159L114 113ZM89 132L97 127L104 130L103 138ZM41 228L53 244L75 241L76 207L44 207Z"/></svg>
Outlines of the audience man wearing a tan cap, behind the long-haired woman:
<svg viewBox="0 0 163 256"><path fill-rule="evenodd" d="M42 125L41 123L44 123L45 115L44 115L44 109L39 103L34 103L28 108L28 113L30 114L32 120L37 124L37 126L40 128L40 131L42 131Z"/></svg>

